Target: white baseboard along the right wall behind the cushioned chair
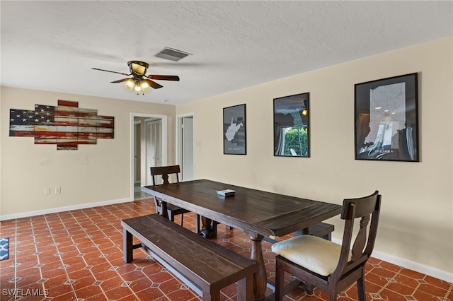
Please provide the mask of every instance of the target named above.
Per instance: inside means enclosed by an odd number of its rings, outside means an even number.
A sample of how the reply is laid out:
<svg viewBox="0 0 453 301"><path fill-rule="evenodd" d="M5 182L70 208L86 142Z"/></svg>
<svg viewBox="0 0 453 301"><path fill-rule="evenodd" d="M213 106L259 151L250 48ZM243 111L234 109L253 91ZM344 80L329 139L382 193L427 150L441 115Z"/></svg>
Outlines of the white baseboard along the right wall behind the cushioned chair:
<svg viewBox="0 0 453 301"><path fill-rule="evenodd" d="M341 241L338 239L332 238L332 241L336 244L341 244ZM433 268L432 266L425 266L424 264L419 264L418 262L411 261L408 259L403 259L400 257L393 256L391 254L386 254L384 252L379 252L374 250L372 257L387 261L391 264L396 264L397 266L402 266L403 268L408 268L418 273L423 273L434 278L453 283L453 273L447 271L442 271L438 268Z"/></svg>

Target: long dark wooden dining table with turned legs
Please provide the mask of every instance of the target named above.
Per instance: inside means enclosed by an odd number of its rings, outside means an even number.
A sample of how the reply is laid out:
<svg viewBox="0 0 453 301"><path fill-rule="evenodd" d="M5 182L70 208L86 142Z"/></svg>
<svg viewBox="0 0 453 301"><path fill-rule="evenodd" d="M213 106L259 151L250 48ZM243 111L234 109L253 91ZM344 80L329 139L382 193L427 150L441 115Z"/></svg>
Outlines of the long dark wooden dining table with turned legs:
<svg viewBox="0 0 453 301"><path fill-rule="evenodd" d="M217 191L225 189L234 190L234 195L217 194ZM142 191L203 216L205 229L207 220L215 220L245 232L252 242L251 259L259 266L253 282L255 300L265 300L267 276L263 238L306 230L341 213L341 206L335 203L275 194L209 179L146 186L142 187Z"/></svg>

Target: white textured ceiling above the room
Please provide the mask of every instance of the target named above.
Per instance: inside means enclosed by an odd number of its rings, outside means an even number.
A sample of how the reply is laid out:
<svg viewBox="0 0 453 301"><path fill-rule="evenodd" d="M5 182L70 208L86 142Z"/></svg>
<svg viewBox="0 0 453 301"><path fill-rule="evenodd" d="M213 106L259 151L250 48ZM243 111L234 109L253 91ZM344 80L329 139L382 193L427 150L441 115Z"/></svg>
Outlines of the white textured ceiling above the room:
<svg viewBox="0 0 453 301"><path fill-rule="evenodd" d="M453 35L452 1L1 1L1 85L178 104ZM178 62L164 47L189 52ZM435 54L433 54L435 55ZM127 61L179 82L135 95Z"/></svg>

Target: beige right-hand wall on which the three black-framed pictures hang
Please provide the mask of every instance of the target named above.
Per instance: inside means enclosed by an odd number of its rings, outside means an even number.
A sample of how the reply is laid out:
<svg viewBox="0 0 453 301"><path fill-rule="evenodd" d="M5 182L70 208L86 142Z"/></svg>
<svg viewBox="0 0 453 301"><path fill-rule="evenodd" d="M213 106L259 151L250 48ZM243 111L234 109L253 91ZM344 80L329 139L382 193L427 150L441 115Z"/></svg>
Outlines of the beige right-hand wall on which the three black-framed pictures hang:
<svg viewBox="0 0 453 301"><path fill-rule="evenodd" d="M452 67L448 38L178 105L176 114L195 114L196 178L332 203L379 189L375 254L453 281ZM420 163L354 160L354 84L415 72ZM304 92L311 158L274 157L273 98ZM222 108L243 103L247 155L223 155ZM339 240L343 224L331 222Z"/></svg>

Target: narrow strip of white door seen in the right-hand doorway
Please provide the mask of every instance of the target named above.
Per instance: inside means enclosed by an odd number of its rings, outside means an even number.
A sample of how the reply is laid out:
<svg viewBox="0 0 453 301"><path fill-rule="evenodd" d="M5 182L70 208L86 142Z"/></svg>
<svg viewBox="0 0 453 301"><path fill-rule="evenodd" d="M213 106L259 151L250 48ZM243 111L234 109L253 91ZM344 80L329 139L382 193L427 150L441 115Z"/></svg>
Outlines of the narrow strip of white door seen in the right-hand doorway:
<svg viewBox="0 0 453 301"><path fill-rule="evenodd" d="M181 128L182 180L193 179L193 117L183 117Z"/></svg>

